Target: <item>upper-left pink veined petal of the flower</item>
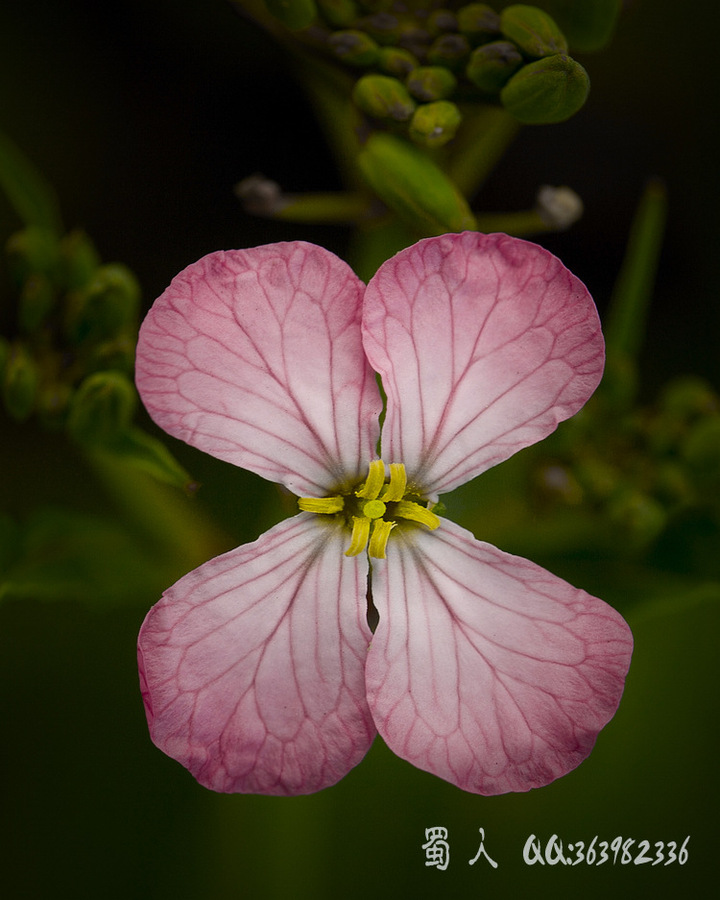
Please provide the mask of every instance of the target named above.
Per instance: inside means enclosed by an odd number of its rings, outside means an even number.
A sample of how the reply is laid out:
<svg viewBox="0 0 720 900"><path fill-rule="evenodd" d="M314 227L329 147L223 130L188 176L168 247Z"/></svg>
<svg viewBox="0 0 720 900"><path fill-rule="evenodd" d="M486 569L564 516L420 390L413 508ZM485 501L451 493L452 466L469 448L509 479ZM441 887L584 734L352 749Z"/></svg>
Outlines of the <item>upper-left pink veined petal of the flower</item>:
<svg viewBox="0 0 720 900"><path fill-rule="evenodd" d="M363 291L346 263L299 241L203 257L140 329L148 412L296 494L362 476L382 408L360 337Z"/></svg>

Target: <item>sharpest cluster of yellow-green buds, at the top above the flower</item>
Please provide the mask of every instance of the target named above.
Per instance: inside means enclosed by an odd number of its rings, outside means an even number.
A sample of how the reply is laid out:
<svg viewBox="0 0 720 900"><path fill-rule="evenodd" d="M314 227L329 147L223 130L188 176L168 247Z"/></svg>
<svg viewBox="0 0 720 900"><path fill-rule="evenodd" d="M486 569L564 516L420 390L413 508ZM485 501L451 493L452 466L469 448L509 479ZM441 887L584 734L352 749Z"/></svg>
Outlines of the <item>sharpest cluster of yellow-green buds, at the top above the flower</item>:
<svg viewBox="0 0 720 900"><path fill-rule="evenodd" d="M562 122L582 107L587 73L547 13L450 3L318 3L330 53L363 73L353 100L366 115L433 148L455 136L462 102L501 104L527 124Z"/></svg>

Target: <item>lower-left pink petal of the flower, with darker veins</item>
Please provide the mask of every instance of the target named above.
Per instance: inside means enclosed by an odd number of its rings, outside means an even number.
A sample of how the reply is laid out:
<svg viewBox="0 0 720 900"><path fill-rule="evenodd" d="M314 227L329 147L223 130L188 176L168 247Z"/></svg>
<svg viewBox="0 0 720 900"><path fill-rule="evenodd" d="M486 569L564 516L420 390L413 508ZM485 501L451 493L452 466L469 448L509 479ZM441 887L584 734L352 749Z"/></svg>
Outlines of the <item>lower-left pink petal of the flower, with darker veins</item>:
<svg viewBox="0 0 720 900"><path fill-rule="evenodd" d="M302 794L367 752L367 560L301 513L186 575L138 644L153 741L206 787Z"/></svg>

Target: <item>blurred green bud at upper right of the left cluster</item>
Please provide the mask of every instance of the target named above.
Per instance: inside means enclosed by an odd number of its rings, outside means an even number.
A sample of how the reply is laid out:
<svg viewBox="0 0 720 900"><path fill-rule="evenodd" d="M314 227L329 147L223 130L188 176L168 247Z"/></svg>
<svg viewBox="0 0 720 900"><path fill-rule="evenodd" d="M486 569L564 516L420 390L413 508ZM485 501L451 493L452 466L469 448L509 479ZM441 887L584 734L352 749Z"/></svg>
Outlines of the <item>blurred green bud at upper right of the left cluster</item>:
<svg viewBox="0 0 720 900"><path fill-rule="evenodd" d="M67 335L76 342L111 338L135 322L139 304L132 272L119 263L102 266L84 290L68 297Z"/></svg>

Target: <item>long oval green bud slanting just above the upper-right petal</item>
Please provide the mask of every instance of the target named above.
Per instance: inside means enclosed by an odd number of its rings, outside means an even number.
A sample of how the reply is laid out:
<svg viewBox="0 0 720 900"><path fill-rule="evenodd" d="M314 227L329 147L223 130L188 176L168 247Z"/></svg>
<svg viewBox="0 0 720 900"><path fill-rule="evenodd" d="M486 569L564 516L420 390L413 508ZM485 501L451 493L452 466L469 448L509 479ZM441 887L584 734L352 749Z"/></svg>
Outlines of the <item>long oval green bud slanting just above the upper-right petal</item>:
<svg viewBox="0 0 720 900"><path fill-rule="evenodd" d="M371 135L358 164L383 203L421 234L475 228L467 201L447 175L422 150L402 138Z"/></svg>

